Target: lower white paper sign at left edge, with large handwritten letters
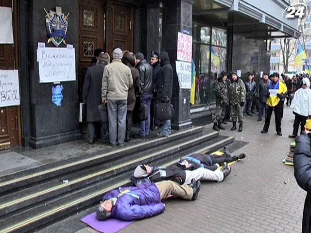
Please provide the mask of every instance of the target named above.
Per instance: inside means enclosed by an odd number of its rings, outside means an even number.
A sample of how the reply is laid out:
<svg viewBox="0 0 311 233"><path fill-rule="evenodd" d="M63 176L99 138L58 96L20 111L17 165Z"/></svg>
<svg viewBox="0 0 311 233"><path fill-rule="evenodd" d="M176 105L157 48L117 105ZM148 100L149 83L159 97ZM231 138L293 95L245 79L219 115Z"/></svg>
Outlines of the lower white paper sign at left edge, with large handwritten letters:
<svg viewBox="0 0 311 233"><path fill-rule="evenodd" d="M0 70L0 107L20 105L18 70Z"/></svg>

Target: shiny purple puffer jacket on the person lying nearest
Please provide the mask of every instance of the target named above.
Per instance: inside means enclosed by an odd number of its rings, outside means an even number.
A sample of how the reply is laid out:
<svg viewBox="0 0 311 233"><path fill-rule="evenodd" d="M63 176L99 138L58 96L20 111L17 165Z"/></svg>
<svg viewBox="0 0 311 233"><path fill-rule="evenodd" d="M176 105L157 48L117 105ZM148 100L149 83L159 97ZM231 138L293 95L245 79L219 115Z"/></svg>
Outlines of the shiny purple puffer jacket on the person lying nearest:
<svg viewBox="0 0 311 233"><path fill-rule="evenodd" d="M129 192L121 195L121 191L124 192L124 190ZM111 217L132 221L152 217L164 211L165 207L161 202L159 190L154 183L141 183L138 187L124 187L121 191L112 190L103 197L103 201L117 198Z"/></svg>

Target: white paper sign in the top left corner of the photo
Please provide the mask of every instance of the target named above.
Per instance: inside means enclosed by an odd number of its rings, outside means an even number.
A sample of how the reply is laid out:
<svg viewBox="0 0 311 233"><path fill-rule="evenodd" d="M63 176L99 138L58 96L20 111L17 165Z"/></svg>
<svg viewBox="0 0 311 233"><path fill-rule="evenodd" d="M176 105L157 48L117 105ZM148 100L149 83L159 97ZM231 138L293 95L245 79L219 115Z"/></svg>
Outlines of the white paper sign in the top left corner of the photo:
<svg viewBox="0 0 311 233"><path fill-rule="evenodd" d="M11 7L0 6L0 44L14 44Z"/></svg>

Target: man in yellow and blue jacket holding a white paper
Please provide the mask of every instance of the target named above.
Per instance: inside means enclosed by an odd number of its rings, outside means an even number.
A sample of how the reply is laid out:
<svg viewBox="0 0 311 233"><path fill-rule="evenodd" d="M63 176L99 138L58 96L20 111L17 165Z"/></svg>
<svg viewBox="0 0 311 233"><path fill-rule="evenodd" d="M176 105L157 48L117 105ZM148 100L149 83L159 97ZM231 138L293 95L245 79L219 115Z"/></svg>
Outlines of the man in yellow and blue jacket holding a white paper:
<svg viewBox="0 0 311 233"><path fill-rule="evenodd" d="M275 90L275 91L274 91ZM271 93L277 93L276 95ZM283 82L279 81L279 74L273 73L272 82L269 84L269 93L267 98L267 118L264 122L263 130L261 133L267 133L269 130L271 115L274 110L274 115L276 117L276 134L282 136L281 129L281 114L283 111L283 101L280 101L287 95L287 87Z"/></svg>

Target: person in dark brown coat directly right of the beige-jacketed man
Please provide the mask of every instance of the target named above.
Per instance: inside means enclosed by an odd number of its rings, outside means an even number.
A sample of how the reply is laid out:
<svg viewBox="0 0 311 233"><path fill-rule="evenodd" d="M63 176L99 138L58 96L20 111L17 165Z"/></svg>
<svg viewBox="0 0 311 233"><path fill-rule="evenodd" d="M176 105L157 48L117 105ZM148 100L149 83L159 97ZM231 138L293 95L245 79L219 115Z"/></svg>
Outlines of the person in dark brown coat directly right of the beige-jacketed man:
<svg viewBox="0 0 311 233"><path fill-rule="evenodd" d="M131 141L132 115L136 102L136 95L139 93L139 73L137 68L134 68L136 61L135 57L131 53L125 52L121 61L131 69L133 77L133 84L128 89L127 94L125 142L129 142Z"/></svg>

